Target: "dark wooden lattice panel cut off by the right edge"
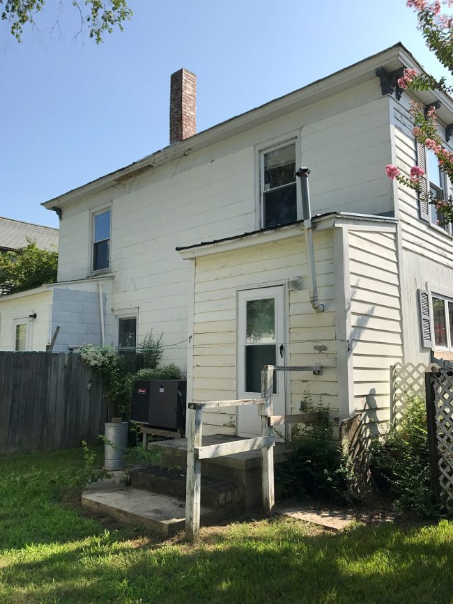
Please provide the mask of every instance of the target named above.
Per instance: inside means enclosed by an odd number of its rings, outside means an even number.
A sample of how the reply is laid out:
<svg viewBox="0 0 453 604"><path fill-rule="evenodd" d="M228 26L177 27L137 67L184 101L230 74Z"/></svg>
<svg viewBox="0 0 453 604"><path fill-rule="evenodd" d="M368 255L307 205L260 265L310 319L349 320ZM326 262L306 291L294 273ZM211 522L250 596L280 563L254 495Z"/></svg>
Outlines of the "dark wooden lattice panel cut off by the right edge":
<svg viewBox="0 0 453 604"><path fill-rule="evenodd" d="M436 371L432 375L440 497L453 512L453 371Z"/></svg>

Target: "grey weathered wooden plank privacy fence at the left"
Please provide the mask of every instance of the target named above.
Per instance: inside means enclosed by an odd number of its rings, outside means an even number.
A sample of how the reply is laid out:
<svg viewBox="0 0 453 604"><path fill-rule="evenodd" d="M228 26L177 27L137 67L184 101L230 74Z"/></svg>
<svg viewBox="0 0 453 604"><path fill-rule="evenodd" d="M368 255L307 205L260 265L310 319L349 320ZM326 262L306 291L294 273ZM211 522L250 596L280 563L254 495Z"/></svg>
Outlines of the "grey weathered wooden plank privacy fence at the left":
<svg viewBox="0 0 453 604"><path fill-rule="evenodd" d="M95 444L107 405L79 355L0 352L0 454Z"/></svg>

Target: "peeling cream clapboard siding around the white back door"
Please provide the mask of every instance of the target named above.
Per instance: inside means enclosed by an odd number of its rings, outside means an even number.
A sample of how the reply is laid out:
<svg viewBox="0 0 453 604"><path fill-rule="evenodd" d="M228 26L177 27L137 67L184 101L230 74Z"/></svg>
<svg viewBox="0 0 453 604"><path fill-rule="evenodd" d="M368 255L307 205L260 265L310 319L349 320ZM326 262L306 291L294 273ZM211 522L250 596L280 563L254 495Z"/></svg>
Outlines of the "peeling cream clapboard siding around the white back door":
<svg viewBox="0 0 453 604"><path fill-rule="evenodd" d="M332 233L314 235L316 270L324 282L320 291L328 293L325 300L331 311L314 312L305 289L289 292L289 357L287 363L325 366L322 376L312 372L289 376L289 400L298 410L300 401L312 396L336 410L337 348L333 290ZM295 253L295 251L297 251ZM293 238L256 245L247 249L226 251L197 258L194 295L194 371L193 400L209 401L237 397L236 309L237 292L263 284L286 283L295 274L307 275L305 242L301 234ZM200 297L201 293L203 296ZM233 317L233 318L231 318ZM323 343L328 352L320 355L314 346ZM212 352L212 353L211 353ZM222 409L204 414L204 433L235 433L236 413ZM205 428L206 426L206 428ZM217 429L217 428L221 428Z"/></svg>

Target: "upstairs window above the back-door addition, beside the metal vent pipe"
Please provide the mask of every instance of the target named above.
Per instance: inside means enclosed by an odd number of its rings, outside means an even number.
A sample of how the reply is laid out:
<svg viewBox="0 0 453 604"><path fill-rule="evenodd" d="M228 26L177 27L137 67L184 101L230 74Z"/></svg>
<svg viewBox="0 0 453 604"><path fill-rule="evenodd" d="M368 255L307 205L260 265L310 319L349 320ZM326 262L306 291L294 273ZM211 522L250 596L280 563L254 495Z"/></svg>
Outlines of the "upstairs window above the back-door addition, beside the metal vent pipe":
<svg viewBox="0 0 453 604"><path fill-rule="evenodd" d="M295 141L261 152L261 224L264 229L298 219L295 162Z"/></svg>

